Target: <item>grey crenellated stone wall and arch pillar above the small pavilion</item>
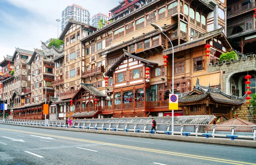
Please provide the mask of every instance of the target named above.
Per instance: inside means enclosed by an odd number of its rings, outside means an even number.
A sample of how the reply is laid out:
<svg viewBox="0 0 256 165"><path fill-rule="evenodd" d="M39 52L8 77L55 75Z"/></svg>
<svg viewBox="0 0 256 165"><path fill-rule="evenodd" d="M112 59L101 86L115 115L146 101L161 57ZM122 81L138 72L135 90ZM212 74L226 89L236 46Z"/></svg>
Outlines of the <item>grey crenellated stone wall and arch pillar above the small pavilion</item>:
<svg viewBox="0 0 256 165"><path fill-rule="evenodd" d="M218 71L223 75L222 91L232 94L230 88L232 75L239 72L256 72L256 55L247 55L246 58L239 58L238 60L231 59L230 62L222 61L222 63L215 62L214 65L209 64L208 73Z"/></svg>

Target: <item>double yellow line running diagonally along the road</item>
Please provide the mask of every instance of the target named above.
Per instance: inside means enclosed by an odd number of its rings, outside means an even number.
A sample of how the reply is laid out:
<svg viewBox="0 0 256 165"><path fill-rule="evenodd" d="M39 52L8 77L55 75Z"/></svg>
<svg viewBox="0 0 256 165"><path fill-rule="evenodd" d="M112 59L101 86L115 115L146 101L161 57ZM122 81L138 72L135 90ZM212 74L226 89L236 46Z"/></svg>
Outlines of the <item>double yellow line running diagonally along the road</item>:
<svg viewBox="0 0 256 165"><path fill-rule="evenodd" d="M9 129L0 128L0 130L9 130ZM161 150L155 150L155 149L150 149L150 148L140 148L140 147L134 147L134 146L128 146L128 145L118 145L118 144L113 144L113 143L97 142L97 141L76 139L76 138L65 137L65 136L55 136L55 135L49 135L49 134L43 134L43 133L27 132L27 131L22 131L22 130L9 130L9 131L29 133L29 134L35 134L35 135L43 135L43 136L52 136L52 137L56 137L56 138L60 138L60 139L75 140L75 141L80 141L80 142L89 142L89 143L94 143L94 144L109 145L109 146L120 147L120 148L129 148L129 149L140 150L140 151L162 153L162 154L166 154L166 155L188 157L188 158L193 158L193 159L202 159L202 160L208 160L208 161L212 161L212 162L222 162L222 163L233 164L233 165L242 165L242 164L256 165L255 163L249 163L249 162L239 162L239 161L234 161L234 160L218 159L218 158L213 158L213 157L198 156L198 155L192 155L192 154L186 154L186 153L176 153L176 152L171 152L171 151L161 151Z"/></svg>

